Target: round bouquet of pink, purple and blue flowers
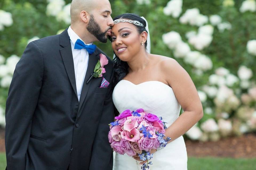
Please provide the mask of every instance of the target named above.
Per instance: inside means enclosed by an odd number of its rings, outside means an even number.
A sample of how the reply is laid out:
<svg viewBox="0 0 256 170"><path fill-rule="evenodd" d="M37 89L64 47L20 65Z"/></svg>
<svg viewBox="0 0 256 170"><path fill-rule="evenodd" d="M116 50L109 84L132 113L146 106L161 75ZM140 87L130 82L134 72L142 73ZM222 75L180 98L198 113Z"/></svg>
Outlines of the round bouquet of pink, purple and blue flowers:
<svg viewBox="0 0 256 170"><path fill-rule="evenodd" d="M164 138L166 122L162 121L162 117L144 112L143 109L132 112L125 110L115 119L115 122L109 124L108 134L113 150L121 155L138 154L141 160L147 160L141 169L149 169L149 164L152 164L149 160L153 158L153 154L150 154L151 149L165 147L171 139Z"/></svg>

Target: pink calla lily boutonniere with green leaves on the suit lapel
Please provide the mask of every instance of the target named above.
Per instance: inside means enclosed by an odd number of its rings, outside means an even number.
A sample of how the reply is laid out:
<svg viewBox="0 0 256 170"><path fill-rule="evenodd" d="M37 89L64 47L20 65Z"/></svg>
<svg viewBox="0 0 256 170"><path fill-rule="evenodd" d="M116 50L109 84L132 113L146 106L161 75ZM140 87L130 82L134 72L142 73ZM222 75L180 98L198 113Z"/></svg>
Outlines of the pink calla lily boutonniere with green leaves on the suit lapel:
<svg viewBox="0 0 256 170"><path fill-rule="evenodd" d="M88 79L86 84L90 82L90 80L98 77L102 77L102 74L106 73L106 70L104 68L105 65L109 63L109 60L107 60L107 57L104 54L99 54L99 61L97 62L94 72L91 74L91 77Z"/></svg>

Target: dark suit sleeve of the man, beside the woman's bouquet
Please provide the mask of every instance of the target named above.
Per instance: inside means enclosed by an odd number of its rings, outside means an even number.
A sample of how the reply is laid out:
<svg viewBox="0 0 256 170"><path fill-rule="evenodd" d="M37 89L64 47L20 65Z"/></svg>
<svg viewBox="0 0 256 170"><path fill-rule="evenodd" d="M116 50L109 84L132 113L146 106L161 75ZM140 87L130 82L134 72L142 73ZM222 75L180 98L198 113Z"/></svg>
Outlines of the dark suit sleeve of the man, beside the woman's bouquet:
<svg viewBox="0 0 256 170"><path fill-rule="evenodd" d="M114 104L112 100L112 81L113 72L110 78L109 92L103 105L101 120L98 125L97 133L94 139L91 163L89 170L104 169L112 170L113 168L113 150L110 147L108 133L109 123L114 120Z"/></svg>

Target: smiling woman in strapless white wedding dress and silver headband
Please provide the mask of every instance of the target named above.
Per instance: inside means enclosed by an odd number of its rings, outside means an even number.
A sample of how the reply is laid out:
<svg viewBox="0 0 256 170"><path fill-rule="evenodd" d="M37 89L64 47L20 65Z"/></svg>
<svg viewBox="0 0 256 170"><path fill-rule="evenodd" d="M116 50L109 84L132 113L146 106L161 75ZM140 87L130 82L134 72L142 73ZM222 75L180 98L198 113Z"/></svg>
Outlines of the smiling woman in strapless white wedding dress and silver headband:
<svg viewBox="0 0 256 170"><path fill-rule="evenodd" d="M150 170L187 169L182 135L203 116L189 74L173 58L150 54L146 21L136 14L114 18L109 38L115 53L113 102L117 111L143 108L168 123L165 136L171 140L163 149L151 150ZM184 112L179 115L181 107ZM145 162L138 156L114 153L113 170L141 169Z"/></svg>

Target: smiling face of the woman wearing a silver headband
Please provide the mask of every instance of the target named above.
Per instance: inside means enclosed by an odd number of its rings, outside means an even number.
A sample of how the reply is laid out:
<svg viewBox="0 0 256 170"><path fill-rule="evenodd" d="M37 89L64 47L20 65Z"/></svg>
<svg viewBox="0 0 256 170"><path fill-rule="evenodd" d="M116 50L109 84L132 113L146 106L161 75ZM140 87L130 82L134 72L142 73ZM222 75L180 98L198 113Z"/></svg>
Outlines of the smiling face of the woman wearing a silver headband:
<svg viewBox="0 0 256 170"><path fill-rule="evenodd" d="M127 22L112 27L111 40L115 54L122 61L131 60L144 47L136 26Z"/></svg>

